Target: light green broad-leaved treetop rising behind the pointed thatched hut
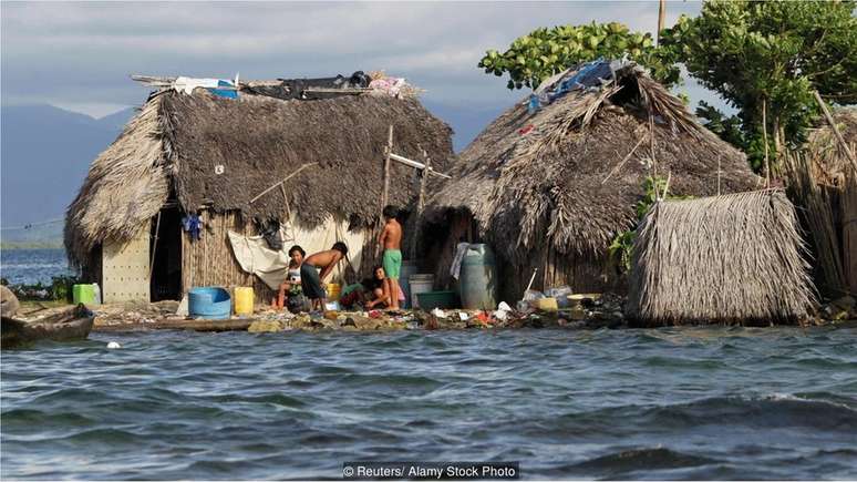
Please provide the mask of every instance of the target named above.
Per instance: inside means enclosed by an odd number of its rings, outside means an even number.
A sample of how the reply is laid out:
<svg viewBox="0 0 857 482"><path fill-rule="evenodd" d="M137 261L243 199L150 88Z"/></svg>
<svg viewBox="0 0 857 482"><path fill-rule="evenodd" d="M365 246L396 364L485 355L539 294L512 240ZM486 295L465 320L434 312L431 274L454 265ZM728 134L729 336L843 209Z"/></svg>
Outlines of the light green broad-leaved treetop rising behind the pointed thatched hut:
<svg viewBox="0 0 857 482"><path fill-rule="evenodd" d="M488 50L478 66L497 76L508 73L509 89L535 89L550 75L580 62L624 54L649 68L660 82L678 83L679 69L661 55L652 35L631 32L618 22L536 29L515 39L503 53Z"/></svg>

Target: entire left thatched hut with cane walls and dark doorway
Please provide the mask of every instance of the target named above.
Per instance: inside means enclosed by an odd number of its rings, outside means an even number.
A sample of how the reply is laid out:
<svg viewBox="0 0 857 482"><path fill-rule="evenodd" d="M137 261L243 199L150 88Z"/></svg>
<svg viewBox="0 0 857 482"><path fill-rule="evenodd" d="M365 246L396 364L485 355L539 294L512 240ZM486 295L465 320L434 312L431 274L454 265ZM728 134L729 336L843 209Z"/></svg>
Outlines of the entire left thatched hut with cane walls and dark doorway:
<svg viewBox="0 0 857 482"><path fill-rule="evenodd" d="M280 221L308 252L349 245L360 271L376 223L388 130L394 151L437 168L452 155L451 129L412 98L353 94L280 100L241 90L227 99L196 89L153 93L93 163L69 206L73 265L101 280L105 300L176 298L194 286L255 286L228 232L255 235L254 221ZM256 198L301 166L317 163ZM407 206L414 170L393 163L389 202ZM203 221L199 239L183 218ZM288 249L288 245L286 246ZM257 291L258 294L259 291Z"/></svg>

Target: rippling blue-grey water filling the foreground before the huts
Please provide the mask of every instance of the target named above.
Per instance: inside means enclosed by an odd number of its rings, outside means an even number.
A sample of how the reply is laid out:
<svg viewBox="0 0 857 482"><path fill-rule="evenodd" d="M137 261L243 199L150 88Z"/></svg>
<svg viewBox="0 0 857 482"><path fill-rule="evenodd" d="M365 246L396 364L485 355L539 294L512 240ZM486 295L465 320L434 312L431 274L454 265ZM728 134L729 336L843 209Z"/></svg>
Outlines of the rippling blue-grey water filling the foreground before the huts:
<svg viewBox="0 0 857 482"><path fill-rule="evenodd" d="M1 367L3 479L857 478L854 327L93 334Z"/></svg>

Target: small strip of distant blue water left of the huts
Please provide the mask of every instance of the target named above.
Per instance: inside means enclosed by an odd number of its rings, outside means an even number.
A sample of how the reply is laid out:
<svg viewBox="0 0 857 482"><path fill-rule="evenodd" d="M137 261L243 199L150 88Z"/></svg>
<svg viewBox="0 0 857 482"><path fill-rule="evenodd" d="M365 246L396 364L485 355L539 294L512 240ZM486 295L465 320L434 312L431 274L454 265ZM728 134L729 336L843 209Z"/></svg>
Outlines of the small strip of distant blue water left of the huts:
<svg viewBox="0 0 857 482"><path fill-rule="evenodd" d="M64 249L3 249L0 277L10 284L51 284L51 277L73 275Z"/></svg>

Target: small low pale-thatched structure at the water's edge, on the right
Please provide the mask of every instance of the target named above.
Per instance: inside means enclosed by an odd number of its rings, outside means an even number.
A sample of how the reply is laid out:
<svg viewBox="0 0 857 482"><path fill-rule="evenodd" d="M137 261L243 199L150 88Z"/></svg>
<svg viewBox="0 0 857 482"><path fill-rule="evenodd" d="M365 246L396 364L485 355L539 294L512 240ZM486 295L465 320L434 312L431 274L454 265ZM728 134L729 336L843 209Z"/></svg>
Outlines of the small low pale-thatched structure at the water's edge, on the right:
<svg viewBox="0 0 857 482"><path fill-rule="evenodd" d="M794 324L814 300L782 191L659 202L638 229L628 315L641 325Z"/></svg>

